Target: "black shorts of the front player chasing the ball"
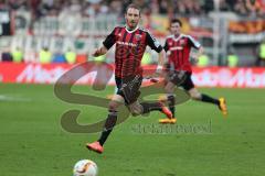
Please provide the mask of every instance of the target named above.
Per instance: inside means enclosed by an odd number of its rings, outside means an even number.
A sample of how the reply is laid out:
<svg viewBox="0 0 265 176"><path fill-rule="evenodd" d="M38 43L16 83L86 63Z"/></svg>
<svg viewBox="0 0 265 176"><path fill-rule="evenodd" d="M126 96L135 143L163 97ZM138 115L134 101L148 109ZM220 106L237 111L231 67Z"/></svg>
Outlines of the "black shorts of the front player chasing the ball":
<svg viewBox="0 0 265 176"><path fill-rule="evenodd" d="M135 75L126 78L115 77L117 86L117 95L124 97L125 103L130 105L140 96L140 87L142 82L141 75Z"/></svg>

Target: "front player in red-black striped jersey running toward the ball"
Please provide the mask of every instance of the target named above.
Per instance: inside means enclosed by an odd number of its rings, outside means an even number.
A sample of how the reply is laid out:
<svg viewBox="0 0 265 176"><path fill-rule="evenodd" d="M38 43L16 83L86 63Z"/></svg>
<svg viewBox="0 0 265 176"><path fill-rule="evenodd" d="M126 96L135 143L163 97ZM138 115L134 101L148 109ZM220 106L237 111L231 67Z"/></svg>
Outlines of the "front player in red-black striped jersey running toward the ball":
<svg viewBox="0 0 265 176"><path fill-rule="evenodd" d="M126 14L126 25L116 26L103 42L103 46L95 51L94 56L100 56L116 44L115 48L115 79L118 91L114 95L108 106L108 116L100 138L93 143L87 143L88 150L103 153L103 145L109 136L117 121L117 109L120 105L126 105L132 116L148 113L152 110L163 112L168 118L172 118L170 110L161 102L138 102L139 88L142 81L141 57L146 46L150 46L159 54L158 73L162 70L166 52L159 42L149 32L138 26L140 20L140 9L135 4L129 4Z"/></svg>

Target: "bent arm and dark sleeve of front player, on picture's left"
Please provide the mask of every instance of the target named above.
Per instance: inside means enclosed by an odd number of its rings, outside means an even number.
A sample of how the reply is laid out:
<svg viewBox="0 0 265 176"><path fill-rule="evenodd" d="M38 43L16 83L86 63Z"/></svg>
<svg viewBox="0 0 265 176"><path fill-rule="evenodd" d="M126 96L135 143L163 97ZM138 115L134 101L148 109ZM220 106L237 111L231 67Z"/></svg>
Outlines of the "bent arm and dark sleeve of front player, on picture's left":
<svg viewBox="0 0 265 176"><path fill-rule="evenodd" d="M94 51L92 54L94 57L105 55L107 51L116 43L115 30L116 28L109 35L107 35L106 40L103 42L103 46Z"/></svg>

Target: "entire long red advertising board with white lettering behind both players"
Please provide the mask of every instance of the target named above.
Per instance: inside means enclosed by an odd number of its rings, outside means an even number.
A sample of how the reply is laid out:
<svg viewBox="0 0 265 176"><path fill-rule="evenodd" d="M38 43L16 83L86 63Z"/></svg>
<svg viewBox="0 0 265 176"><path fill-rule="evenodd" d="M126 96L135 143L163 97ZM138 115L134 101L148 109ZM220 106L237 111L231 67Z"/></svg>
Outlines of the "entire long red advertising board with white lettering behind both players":
<svg viewBox="0 0 265 176"><path fill-rule="evenodd" d="M0 81L17 84L54 84L72 67L73 65L67 64L41 65L0 63ZM146 68L148 69L150 66ZM91 72L83 76L77 84L92 85L96 73ZM265 88L265 68L194 67L192 79L198 87ZM115 84L114 76L108 84ZM147 81L145 84L147 84Z"/></svg>

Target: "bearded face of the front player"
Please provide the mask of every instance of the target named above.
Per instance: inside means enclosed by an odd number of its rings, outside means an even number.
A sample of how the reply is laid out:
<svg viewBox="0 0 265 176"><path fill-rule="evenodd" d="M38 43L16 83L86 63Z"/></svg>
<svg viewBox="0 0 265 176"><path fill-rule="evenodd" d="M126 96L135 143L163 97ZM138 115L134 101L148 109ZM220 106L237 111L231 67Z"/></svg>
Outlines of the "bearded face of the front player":
<svg viewBox="0 0 265 176"><path fill-rule="evenodd" d="M140 11L138 9L129 8L125 14L125 20L129 29L135 29L140 20Z"/></svg>

